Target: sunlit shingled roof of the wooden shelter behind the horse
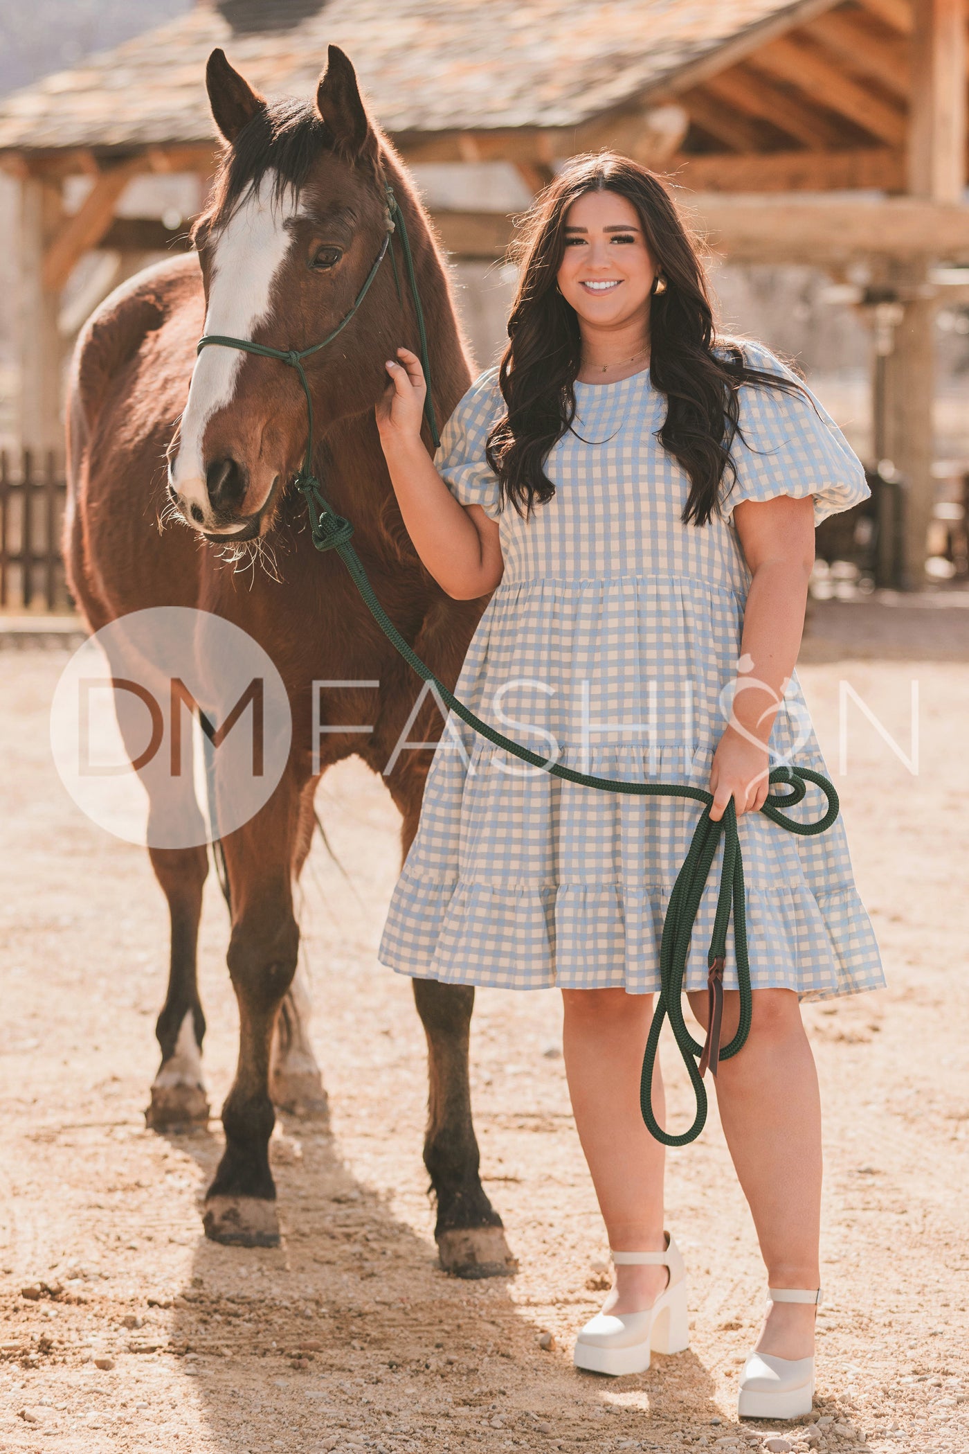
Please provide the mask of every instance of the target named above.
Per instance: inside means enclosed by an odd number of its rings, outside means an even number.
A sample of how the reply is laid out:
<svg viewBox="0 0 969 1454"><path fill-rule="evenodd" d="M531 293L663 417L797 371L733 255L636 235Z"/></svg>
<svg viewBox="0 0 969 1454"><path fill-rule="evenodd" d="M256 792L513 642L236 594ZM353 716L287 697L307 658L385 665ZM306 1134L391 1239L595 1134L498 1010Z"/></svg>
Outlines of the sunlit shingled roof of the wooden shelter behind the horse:
<svg viewBox="0 0 969 1454"><path fill-rule="evenodd" d="M222 47L266 93L312 93L343 47L395 135L568 128L674 90L697 63L827 9L805 0L200 0L0 105L0 150L209 141ZM272 28L270 28L272 26Z"/></svg>

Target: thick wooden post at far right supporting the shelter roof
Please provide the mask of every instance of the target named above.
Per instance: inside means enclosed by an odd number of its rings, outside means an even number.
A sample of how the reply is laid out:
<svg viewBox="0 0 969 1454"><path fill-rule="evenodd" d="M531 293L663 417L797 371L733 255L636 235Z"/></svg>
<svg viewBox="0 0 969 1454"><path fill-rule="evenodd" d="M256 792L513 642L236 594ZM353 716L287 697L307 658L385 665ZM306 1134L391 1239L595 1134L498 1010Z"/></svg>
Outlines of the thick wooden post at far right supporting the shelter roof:
<svg viewBox="0 0 969 1454"><path fill-rule="evenodd" d="M912 90L908 129L908 192L954 205L966 185L966 0L912 0ZM931 246L931 238L927 238ZM895 349L886 359L891 457L905 481L902 585L925 582L933 480L936 397L936 305L928 297L927 259L889 266L904 305Z"/></svg>

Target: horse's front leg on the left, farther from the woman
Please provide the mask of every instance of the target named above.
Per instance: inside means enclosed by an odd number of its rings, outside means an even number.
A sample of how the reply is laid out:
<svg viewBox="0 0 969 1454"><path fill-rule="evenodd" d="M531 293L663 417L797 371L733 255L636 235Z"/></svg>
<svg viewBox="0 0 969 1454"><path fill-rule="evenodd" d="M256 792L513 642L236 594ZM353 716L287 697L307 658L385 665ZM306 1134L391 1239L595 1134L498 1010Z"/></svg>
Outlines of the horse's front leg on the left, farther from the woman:
<svg viewBox="0 0 969 1454"><path fill-rule="evenodd" d="M276 1015L296 971L299 928L292 871L299 830L301 785L286 774L269 803L224 840L232 890L228 968L238 1000L235 1080L222 1106L225 1153L205 1200L205 1232L214 1242L275 1246L276 1186L269 1138L276 1115L269 1061Z"/></svg>

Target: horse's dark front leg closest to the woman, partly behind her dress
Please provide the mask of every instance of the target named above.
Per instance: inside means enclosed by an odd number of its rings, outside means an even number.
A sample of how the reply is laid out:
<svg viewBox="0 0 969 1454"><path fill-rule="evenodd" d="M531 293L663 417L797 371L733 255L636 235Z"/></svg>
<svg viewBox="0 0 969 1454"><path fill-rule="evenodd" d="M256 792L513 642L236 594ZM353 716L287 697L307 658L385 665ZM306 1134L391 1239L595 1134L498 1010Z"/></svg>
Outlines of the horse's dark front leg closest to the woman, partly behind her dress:
<svg viewBox="0 0 969 1454"><path fill-rule="evenodd" d="M417 832L423 775L394 772L388 788L402 813L404 858ZM440 1265L458 1277L495 1277L517 1262L504 1237L501 1217L481 1185L481 1154L471 1118L468 1054L471 986L414 980L414 1002L427 1037L427 1133L424 1166L437 1204L434 1240Z"/></svg>

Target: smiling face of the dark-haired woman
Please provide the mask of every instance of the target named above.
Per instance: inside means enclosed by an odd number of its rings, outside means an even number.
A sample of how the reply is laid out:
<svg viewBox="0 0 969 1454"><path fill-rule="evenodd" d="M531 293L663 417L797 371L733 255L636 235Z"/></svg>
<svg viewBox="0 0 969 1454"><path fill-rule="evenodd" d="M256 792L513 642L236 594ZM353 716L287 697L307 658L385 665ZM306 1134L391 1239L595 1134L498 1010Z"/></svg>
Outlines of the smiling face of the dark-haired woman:
<svg viewBox="0 0 969 1454"><path fill-rule="evenodd" d="M657 266L639 214L617 192L584 192L565 214L559 291L578 317L610 327L648 310Z"/></svg>

